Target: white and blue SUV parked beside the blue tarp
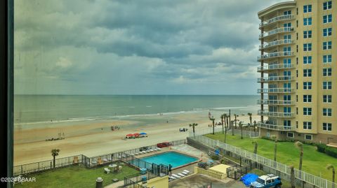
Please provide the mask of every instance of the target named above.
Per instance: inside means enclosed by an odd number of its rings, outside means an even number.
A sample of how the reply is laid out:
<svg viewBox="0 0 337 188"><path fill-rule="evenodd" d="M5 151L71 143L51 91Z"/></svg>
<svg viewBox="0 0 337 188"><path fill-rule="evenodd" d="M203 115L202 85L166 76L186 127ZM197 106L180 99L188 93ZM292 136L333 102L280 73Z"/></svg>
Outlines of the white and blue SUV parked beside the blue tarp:
<svg viewBox="0 0 337 188"><path fill-rule="evenodd" d="M281 178L274 174L261 175L255 182L251 182L250 188L280 188L282 185Z"/></svg>

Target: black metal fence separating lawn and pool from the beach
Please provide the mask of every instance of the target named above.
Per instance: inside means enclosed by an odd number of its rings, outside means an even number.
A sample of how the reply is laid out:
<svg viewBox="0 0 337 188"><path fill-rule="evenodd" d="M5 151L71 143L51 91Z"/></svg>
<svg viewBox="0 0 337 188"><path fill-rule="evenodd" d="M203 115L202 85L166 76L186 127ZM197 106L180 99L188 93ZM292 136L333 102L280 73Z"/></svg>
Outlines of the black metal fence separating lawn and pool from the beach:
<svg viewBox="0 0 337 188"><path fill-rule="evenodd" d="M186 139L183 140L175 140L169 142L170 145L180 145L180 144L185 144L187 143ZM137 159L136 157L133 157L133 154L136 154L137 152L139 153L140 150L143 150L144 148L147 148L147 150L153 150L157 148L157 145L150 145L146 147L138 147L136 149L131 149L131 150L126 150L123 152L114 152L110 154L103 154L95 157L86 157L84 154L79 154L79 155L74 155L70 157L62 157L62 158L56 158L55 159L55 168L62 168L66 166L71 166L71 165L77 165L77 164L83 164L87 168L93 168L95 166L100 166L100 165L105 165L109 164L114 161L133 161L134 159ZM147 169L154 169L152 168L152 164L142 164L142 162L139 161L140 168L147 168ZM149 168L149 165L151 166ZM157 166L155 166L157 169ZM14 166L13 168L13 174L16 175L24 175L28 173L37 173L40 171L48 171L53 168L53 159L51 160L46 160L46 161L39 161L35 163L29 163L29 164L22 164L18 166ZM160 168L160 171L164 171L163 169L168 168L162 167ZM157 171L157 170L155 170ZM167 169L168 171L168 169Z"/></svg>

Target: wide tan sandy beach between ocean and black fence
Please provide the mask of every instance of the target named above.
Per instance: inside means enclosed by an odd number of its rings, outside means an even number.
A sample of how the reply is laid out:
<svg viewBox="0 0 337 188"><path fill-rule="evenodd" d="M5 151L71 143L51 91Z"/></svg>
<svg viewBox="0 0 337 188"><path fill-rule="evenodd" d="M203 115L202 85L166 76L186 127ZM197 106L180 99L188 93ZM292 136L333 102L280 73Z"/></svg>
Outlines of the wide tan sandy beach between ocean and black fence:
<svg viewBox="0 0 337 188"><path fill-rule="evenodd" d="M180 140L188 136L188 132L180 132L179 128L192 127L197 123L198 129L205 129L211 124L208 112L148 115L141 117L123 117L113 120L90 120L81 122L51 122L46 125L27 125L15 127L14 133L14 164L27 164L36 161L50 160L51 150L60 149L58 157L68 157L74 154L85 154L93 157L99 154L119 152L136 147L154 145L156 143ZM213 115L213 114L212 114ZM214 113L216 121L220 113ZM232 119L234 117L232 116ZM259 116L253 115L258 121ZM240 116L239 120L249 122L249 116ZM111 126L120 129L112 131ZM146 132L147 138L123 139L128 133ZM46 141L65 135L63 140Z"/></svg>

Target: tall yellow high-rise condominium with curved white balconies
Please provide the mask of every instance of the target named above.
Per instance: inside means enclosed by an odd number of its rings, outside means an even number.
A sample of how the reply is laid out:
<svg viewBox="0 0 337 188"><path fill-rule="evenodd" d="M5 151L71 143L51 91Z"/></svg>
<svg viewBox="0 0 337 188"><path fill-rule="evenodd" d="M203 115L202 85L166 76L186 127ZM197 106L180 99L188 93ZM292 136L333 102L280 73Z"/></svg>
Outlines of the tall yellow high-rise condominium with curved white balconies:
<svg viewBox="0 0 337 188"><path fill-rule="evenodd" d="M337 0L286 1L258 17L261 136L337 143Z"/></svg>

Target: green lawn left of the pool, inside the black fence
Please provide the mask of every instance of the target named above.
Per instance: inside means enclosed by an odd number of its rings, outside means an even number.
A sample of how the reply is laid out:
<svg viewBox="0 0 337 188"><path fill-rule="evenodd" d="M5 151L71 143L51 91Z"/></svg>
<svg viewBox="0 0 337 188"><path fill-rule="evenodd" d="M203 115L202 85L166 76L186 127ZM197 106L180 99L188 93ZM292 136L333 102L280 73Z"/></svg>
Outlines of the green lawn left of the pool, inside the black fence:
<svg viewBox="0 0 337 188"><path fill-rule="evenodd" d="M24 182L23 185L16 184L15 187L95 187L95 180L103 178L103 186L112 184L112 179L124 180L126 175L138 173L136 169L121 164L123 168L120 173L104 173L104 168L85 168L84 166L70 166L58 168L53 171L45 171L24 176L36 178L36 182Z"/></svg>

